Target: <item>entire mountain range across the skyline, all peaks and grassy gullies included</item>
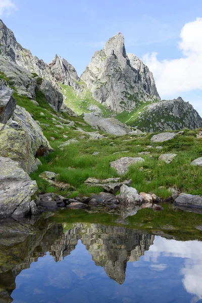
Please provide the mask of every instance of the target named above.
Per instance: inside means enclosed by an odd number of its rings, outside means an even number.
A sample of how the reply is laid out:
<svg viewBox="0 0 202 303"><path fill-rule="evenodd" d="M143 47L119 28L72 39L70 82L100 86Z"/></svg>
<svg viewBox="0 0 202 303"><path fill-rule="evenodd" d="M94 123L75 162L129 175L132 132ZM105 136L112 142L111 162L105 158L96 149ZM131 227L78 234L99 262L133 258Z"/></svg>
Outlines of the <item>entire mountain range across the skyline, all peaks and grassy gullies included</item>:
<svg viewBox="0 0 202 303"><path fill-rule="evenodd" d="M181 98L160 100L153 74L139 58L126 54L121 33L95 52L79 78L58 55L49 64L34 57L0 20L2 72L20 95L35 99L39 91L54 110L71 116L71 110L105 118L117 115L121 122L147 132L202 125L198 113Z"/></svg>

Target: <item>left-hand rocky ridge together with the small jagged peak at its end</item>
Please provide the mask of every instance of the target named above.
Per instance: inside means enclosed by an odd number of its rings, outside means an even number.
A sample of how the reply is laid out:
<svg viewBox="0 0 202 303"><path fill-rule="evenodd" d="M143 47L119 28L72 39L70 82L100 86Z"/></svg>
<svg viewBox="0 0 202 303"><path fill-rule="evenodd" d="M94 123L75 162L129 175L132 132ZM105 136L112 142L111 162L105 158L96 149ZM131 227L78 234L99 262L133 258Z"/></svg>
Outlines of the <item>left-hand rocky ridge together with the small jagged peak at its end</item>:
<svg viewBox="0 0 202 303"><path fill-rule="evenodd" d="M59 82L77 88L79 77L71 64L60 56L47 65L34 57L16 40L12 30L0 20L0 70L12 81L20 94L35 99L35 91L44 94L45 99L56 111L60 111L63 95Z"/></svg>

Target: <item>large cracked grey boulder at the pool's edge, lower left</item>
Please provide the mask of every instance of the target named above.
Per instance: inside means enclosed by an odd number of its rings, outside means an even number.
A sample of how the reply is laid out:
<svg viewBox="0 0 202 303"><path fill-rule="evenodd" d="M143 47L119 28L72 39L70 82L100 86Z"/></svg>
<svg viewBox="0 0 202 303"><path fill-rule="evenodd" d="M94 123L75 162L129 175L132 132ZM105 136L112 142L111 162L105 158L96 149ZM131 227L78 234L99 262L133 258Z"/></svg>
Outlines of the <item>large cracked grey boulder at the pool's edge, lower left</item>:
<svg viewBox="0 0 202 303"><path fill-rule="evenodd" d="M0 217L24 217L34 212L31 197L36 191L36 181L17 162L0 157Z"/></svg>

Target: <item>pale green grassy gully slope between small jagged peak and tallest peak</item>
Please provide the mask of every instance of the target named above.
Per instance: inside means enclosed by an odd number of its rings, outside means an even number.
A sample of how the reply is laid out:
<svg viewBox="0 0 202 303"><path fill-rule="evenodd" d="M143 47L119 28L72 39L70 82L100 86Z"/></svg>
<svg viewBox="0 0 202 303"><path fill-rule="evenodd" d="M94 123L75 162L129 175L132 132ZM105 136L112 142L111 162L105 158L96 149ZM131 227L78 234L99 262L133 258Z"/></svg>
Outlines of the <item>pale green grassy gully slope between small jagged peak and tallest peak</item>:
<svg viewBox="0 0 202 303"><path fill-rule="evenodd" d="M81 115L83 113L90 113L88 109L90 105L97 106L103 117L111 117L113 112L106 106L97 102L89 89L86 88L84 82L78 82L82 88L82 92L77 94L73 87L61 84L62 93L65 96L64 102L67 107L71 108L75 113Z"/></svg>

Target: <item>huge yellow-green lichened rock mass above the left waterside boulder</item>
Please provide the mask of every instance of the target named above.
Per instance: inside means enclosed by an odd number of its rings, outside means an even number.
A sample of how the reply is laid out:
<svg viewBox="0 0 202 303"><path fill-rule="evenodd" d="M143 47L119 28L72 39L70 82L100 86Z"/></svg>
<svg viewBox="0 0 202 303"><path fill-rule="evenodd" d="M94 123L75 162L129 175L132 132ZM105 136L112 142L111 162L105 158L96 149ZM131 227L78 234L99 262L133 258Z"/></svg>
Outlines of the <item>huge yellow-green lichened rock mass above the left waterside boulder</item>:
<svg viewBox="0 0 202 303"><path fill-rule="evenodd" d="M0 123L0 156L17 161L27 173L31 173L40 164L37 157L53 151L53 148L24 108L17 106L12 111L7 124Z"/></svg>

